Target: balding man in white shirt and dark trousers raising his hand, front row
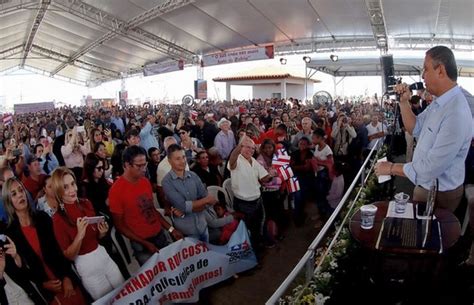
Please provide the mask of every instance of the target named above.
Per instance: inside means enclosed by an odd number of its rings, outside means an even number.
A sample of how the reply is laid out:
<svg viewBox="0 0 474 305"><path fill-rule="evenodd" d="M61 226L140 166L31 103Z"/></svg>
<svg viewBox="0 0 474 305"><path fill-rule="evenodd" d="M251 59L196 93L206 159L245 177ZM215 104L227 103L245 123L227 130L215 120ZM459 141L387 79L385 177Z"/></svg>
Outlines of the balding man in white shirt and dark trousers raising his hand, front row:
<svg viewBox="0 0 474 305"><path fill-rule="evenodd" d="M243 213L244 222L251 232L254 250L262 240L263 206L260 185L272 179L267 170L255 160L255 143L244 136L230 154L227 168L230 170L234 209ZM258 257L258 252L256 253Z"/></svg>

